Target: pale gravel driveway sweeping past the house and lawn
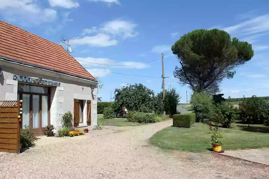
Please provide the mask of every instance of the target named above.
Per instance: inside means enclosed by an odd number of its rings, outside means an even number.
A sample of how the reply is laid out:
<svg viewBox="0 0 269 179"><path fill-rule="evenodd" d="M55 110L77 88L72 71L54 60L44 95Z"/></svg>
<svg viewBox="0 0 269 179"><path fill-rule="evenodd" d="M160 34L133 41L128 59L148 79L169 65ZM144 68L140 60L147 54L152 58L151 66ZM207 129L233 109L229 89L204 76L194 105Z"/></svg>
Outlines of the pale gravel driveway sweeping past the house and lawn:
<svg viewBox="0 0 269 179"><path fill-rule="evenodd" d="M269 178L269 168L260 164L148 144L155 132L171 125L170 120L110 127L20 155L2 155L0 178Z"/></svg>

